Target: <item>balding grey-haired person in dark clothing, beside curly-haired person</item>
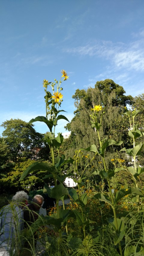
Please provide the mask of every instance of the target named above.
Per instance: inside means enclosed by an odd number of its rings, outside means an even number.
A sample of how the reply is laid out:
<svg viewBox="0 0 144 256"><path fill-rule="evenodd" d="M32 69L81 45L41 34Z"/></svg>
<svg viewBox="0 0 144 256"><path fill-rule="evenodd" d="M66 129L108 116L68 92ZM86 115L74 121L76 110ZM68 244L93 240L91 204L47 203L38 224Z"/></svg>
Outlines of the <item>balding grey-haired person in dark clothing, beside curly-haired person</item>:
<svg viewBox="0 0 144 256"><path fill-rule="evenodd" d="M35 195L32 203L23 208L24 227L27 228L34 223L39 216L39 210L43 204L44 198L41 195Z"/></svg>

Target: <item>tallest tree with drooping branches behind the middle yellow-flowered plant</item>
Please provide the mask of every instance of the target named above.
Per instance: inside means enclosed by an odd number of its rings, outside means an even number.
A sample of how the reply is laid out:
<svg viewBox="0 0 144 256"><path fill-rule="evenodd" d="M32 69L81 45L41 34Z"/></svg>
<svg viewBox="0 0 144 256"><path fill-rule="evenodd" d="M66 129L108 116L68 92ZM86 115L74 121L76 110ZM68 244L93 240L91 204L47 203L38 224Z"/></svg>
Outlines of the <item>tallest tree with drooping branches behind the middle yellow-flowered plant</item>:
<svg viewBox="0 0 144 256"><path fill-rule="evenodd" d="M70 125L65 127L71 131L68 138L71 142L66 153L72 156L76 149L87 148L91 144L99 147L97 133L94 128L91 128L90 122L91 108L94 108L95 105L102 106L104 112L102 126L99 131L101 140L110 138L117 141L128 138L129 123L122 114L125 112L125 106L133 103L133 97L131 95L126 96L124 93L123 87L110 79L97 82L95 88L76 90L72 96L75 99L75 116ZM119 155L116 148L111 147L109 155L106 156L109 167L111 166L110 159L114 157L114 154ZM100 164L98 164L100 161L99 158L95 160L96 167L100 167Z"/></svg>

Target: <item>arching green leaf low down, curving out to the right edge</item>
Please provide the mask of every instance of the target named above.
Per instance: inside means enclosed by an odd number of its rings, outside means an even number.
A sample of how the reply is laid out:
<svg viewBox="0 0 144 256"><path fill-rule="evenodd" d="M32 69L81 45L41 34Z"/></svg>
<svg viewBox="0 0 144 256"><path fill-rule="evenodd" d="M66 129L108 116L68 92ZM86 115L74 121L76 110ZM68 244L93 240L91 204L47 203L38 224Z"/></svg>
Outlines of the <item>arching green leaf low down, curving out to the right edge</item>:
<svg viewBox="0 0 144 256"><path fill-rule="evenodd" d="M114 205L116 206L119 200L128 194L140 195L141 197L143 197L143 193L140 191L139 188L129 188L128 190L121 189L115 194Z"/></svg>

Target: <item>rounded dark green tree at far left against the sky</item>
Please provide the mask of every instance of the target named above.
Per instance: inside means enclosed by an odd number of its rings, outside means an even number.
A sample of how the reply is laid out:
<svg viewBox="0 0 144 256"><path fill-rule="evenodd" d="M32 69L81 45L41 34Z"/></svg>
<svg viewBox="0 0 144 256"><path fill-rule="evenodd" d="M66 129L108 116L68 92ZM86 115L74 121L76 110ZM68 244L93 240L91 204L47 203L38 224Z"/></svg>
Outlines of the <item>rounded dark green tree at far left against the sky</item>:
<svg viewBox="0 0 144 256"><path fill-rule="evenodd" d="M42 141L43 134L36 132L33 125L28 125L20 119L10 119L1 126L5 129L2 135L10 149L11 161L16 162L19 157L47 160L48 155L43 152L46 147ZM46 151L49 153L48 147Z"/></svg>

